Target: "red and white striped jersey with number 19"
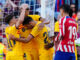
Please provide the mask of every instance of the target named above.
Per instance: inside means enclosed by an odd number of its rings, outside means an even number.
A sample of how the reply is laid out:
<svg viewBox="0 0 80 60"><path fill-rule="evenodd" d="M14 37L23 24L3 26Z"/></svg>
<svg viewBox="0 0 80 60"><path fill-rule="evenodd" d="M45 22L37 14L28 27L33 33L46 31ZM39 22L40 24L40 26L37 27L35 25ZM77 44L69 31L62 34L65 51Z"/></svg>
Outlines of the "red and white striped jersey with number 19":
<svg viewBox="0 0 80 60"><path fill-rule="evenodd" d="M77 38L76 21L69 16L65 16L59 21L59 34L55 41L60 40L57 51L75 52L74 40Z"/></svg>

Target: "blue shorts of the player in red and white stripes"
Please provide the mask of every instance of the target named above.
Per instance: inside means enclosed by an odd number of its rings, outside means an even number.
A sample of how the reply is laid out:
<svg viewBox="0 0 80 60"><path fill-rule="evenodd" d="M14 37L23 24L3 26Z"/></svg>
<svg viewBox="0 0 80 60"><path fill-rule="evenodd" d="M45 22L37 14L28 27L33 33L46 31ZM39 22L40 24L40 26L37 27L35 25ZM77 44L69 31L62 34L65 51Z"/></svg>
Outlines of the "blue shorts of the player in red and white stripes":
<svg viewBox="0 0 80 60"><path fill-rule="evenodd" d="M54 60L76 60L75 53L57 51Z"/></svg>

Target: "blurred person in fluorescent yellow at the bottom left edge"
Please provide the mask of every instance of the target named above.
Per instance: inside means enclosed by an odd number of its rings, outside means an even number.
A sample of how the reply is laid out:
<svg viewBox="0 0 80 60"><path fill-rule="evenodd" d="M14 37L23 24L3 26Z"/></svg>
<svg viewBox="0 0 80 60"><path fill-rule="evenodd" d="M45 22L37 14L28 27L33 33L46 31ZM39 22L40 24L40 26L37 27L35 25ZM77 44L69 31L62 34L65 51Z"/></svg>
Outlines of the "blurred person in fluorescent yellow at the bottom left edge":
<svg viewBox="0 0 80 60"><path fill-rule="evenodd" d="M7 53L7 49L2 44L2 40L0 39L0 60L5 60L6 53Z"/></svg>

